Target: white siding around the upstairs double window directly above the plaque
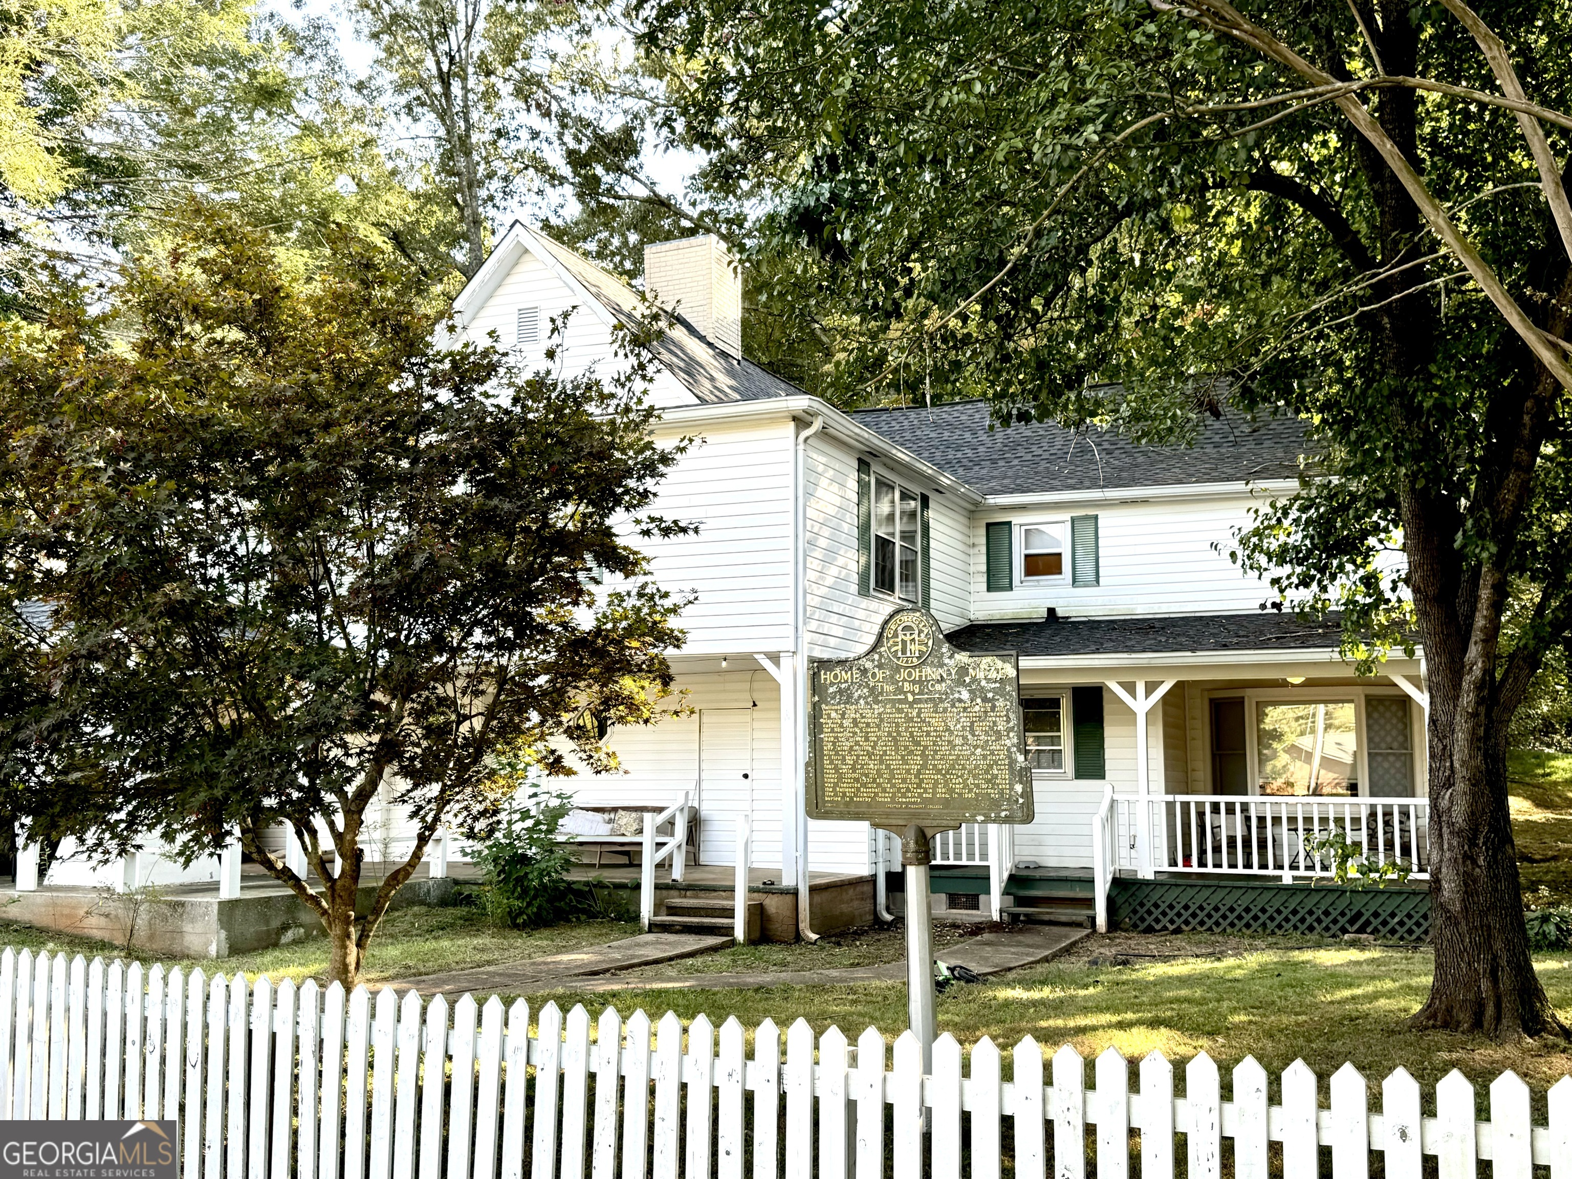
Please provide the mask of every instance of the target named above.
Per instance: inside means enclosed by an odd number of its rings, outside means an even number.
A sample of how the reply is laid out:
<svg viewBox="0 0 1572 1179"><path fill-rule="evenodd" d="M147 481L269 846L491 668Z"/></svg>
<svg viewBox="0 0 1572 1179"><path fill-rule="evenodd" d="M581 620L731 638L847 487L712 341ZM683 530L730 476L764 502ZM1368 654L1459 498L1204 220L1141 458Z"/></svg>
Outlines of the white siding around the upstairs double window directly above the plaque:
<svg viewBox="0 0 1572 1179"><path fill-rule="evenodd" d="M883 618L899 605L891 597L857 593L857 459L835 440L806 443L808 656L846 659L874 641ZM929 497L929 597L940 626L970 619L970 520L954 497L874 462L874 472Z"/></svg>

